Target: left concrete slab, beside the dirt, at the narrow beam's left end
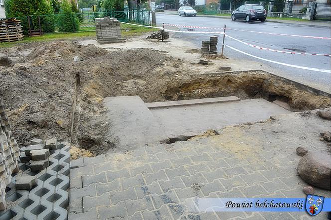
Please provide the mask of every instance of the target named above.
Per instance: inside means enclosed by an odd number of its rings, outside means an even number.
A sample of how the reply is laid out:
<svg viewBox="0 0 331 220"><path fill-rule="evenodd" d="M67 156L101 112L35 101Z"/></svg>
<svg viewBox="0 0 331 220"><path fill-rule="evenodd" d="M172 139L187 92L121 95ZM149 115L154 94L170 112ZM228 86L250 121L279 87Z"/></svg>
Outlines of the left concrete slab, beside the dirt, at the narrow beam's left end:
<svg viewBox="0 0 331 220"><path fill-rule="evenodd" d="M118 139L119 149L165 139L165 133L139 96L106 97L104 105L112 125L109 133Z"/></svg>

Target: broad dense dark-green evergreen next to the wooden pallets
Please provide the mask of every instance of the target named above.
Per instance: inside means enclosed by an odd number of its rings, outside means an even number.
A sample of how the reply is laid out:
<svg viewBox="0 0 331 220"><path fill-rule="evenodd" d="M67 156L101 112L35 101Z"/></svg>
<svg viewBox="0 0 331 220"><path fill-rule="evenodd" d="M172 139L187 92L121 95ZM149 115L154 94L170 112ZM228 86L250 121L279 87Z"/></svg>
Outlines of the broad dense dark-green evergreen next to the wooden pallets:
<svg viewBox="0 0 331 220"><path fill-rule="evenodd" d="M55 30L54 9L50 0L5 0L6 17L21 17L24 34L29 29L28 19L31 16L31 28L39 29L39 17L43 32ZM45 16L43 16L45 15Z"/></svg>

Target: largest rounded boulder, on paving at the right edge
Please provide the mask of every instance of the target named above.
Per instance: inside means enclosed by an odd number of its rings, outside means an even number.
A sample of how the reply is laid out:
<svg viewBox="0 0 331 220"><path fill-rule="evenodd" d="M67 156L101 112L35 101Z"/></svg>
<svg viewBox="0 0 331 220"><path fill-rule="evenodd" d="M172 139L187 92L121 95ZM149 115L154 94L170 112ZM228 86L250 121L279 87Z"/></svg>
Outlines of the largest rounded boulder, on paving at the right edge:
<svg viewBox="0 0 331 220"><path fill-rule="evenodd" d="M308 152L299 161L297 171L306 183L330 190L330 155Z"/></svg>

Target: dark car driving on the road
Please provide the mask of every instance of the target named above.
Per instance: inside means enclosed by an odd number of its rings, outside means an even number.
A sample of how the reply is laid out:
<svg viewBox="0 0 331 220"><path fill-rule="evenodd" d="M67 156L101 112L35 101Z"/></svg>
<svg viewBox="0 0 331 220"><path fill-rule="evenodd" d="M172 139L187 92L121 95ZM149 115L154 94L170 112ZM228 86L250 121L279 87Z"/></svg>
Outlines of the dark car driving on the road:
<svg viewBox="0 0 331 220"><path fill-rule="evenodd" d="M267 18L267 11L259 4L244 4L238 7L231 14L231 19L235 20L246 20L249 22L251 20L260 20L264 22Z"/></svg>

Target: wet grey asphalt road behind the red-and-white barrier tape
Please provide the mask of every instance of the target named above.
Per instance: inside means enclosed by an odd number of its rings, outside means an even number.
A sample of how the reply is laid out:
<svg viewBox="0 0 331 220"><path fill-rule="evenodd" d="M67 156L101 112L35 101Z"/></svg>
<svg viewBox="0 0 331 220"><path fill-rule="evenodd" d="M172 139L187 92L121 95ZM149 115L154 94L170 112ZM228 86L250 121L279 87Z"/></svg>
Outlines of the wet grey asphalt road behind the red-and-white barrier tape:
<svg viewBox="0 0 331 220"><path fill-rule="evenodd" d="M156 20L157 20L157 26L161 26L162 23L171 23L171 24L203 26L203 27L223 27L224 24L226 24L226 26L229 28L241 29L241 30L330 37L330 28L328 27L314 27L314 26L307 26L302 24L286 24L286 23L274 23L274 22L261 23L259 21L252 21L250 23L246 23L245 21L233 22L230 19L226 19L226 18L199 17L199 16L180 17L178 15L159 14L159 13L157 13L156 15ZM180 30L187 31L187 28L181 28ZM221 30L195 29L195 31L221 31ZM236 39L261 47L277 49L277 50L294 51L294 52L331 54L330 40L327 39L278 36L278 35L259 34L259 33L242 32L242 31L234 31L234 30L227 30L226 32L228 35ZM190 41L194 43L197 47L201 46L202 40L209 39L208 34L175 33L172 37ZM222 36L219 37L219 42L221 40L222 40ZM242 43L239 43L230 38L226 38L225 44L228 44L246 53L273 61L304 66L304 67L330 70L331 59L330 57L327 56L284 54L278 52L259 50L244 45ZM220 51L220 43L218 47L219 47L218 50ZM330 75L331 75L330 73L310 71L310 70L304 70L304 69L298 69L294 67L274 64L267 61L258 60L253 57L249 57L245 54L241 54L237 51L231 50L230 48L225 48L224 54L229 58L241 59L243 60L243 62L246 60L258 61L261 63L264 69L272 73L275 73L277 75L289 78L291 80L330 93Z"/></svg>

